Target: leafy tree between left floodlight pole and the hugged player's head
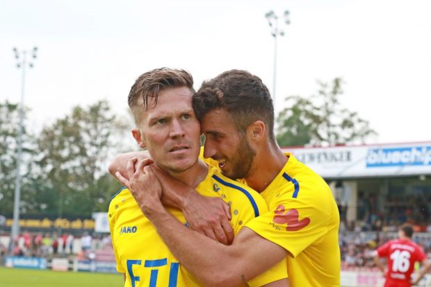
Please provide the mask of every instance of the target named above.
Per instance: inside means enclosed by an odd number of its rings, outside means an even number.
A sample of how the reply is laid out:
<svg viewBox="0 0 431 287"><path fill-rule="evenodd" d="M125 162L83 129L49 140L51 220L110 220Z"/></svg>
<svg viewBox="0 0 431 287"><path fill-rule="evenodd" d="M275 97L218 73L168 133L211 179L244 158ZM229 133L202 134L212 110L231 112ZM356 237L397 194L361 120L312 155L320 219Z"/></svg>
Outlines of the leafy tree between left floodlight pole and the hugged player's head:
<svg viewBox="0 0 431 287"><path fill-rule="evenodd" d="M119 152L126 128L106 101L74 107L72 114L45 127L38 139L38 206L58 216L106 211L120 188L106 174L107 160Z"/></svg>

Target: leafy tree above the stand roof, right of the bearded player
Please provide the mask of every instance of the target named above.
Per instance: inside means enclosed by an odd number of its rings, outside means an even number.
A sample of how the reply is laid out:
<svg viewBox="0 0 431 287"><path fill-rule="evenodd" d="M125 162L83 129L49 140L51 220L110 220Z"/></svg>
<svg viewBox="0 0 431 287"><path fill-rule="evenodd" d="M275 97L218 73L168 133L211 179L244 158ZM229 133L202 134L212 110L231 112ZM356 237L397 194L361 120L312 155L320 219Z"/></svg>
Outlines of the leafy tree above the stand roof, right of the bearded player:
<svg viewBox="0 0 431 287"><path fill-rule="evenodd" d="M364 143L368 137L377 134L357 112L341 107L342 84L341 78L334 78L330 84L319 81L318 93L310 98L288 96L288 107L277 117L279 145Z"/></svg>

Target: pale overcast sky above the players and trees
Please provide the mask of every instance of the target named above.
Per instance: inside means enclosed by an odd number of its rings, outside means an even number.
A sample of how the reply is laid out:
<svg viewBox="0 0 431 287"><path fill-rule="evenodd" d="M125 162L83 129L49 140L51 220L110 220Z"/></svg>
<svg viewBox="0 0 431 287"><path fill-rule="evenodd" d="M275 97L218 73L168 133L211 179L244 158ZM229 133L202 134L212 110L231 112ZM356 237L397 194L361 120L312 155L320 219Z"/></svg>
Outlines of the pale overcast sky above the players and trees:
<svg viewBox="0 0 431 287"><path fill-rule="evenodd" d="M266 12L291 14L278 40L276 110L316 80L345 80L345 107L370 121L370 143L431 141L431 1L0 0L0 102L19 102L13 47L38 46L25 104L38 129L74 105L127 111L134 80L156 67L202 80L247 69L273 91Z"/></svg>

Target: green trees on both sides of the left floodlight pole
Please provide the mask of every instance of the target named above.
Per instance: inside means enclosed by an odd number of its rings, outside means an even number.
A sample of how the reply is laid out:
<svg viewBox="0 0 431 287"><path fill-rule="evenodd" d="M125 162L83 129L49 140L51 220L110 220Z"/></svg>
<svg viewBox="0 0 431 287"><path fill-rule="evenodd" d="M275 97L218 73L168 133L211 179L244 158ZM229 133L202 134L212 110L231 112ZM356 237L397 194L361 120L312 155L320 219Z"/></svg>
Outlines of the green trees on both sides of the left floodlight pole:
<svg viewBox="0 0 431 287"><path fill-rule="evenodd" d="M0 104L0 214L10 215L15 191L17 105ZM106 211L121 186L106 172L129 132L106 101L70 114L23 138L22 214L90 216ZM129 135L127 137L130 137Z"/></svg>

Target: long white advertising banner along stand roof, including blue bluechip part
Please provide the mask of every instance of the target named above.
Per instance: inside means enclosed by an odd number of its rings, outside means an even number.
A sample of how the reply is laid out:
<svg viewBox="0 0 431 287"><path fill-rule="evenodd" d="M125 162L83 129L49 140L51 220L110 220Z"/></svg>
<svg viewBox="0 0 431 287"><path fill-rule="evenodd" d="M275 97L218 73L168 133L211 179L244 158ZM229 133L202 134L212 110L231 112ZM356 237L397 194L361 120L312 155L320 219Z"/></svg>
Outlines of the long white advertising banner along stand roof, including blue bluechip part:
<svg viewBox="0 0 431 287"><path fill-rule="evenodd" d="M431 175L431 141L283 150L327 178Z"/></svg>

